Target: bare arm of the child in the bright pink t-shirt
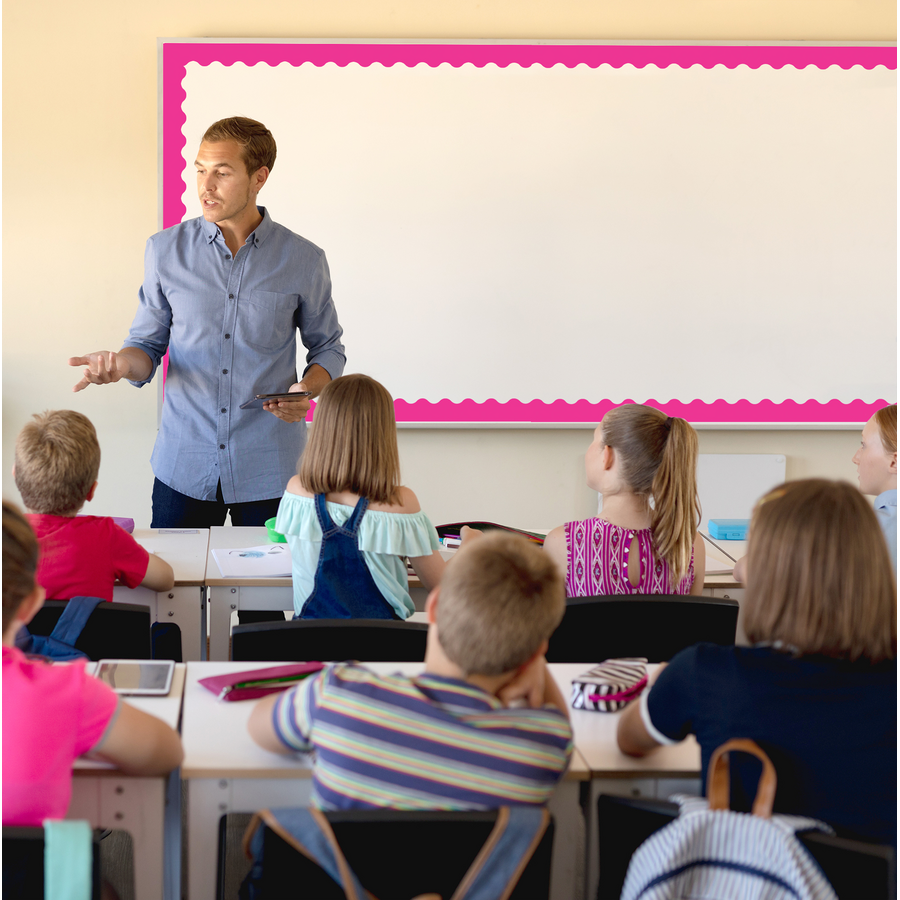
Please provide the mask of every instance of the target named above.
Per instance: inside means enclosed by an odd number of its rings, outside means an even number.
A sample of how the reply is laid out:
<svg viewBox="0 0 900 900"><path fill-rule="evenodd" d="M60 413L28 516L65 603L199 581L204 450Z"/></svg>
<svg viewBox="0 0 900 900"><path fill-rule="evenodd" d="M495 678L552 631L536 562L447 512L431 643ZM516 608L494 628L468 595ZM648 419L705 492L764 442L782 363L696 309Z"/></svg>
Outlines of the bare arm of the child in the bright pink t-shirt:
<svg viewBox="0 0 900 900"><path fill-rule="evenodd" d="M106 759L127 775L165 775L181 765L181 738L162 719L119 702L115 720L88 754Z"/></svg>

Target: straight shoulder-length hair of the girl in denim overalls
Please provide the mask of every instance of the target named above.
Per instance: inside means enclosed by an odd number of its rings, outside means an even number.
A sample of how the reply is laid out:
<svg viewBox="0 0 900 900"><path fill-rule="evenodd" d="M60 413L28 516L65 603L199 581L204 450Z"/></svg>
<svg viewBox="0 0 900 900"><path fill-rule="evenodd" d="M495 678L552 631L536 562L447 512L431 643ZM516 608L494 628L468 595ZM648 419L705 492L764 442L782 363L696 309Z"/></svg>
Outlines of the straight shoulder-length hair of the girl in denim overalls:
<svg viewBox="0 0 900 900"><path fill-rule="evenodd" d="M368 375L325 385L297 474L313 494L350 491L370 503L398 502L397 422L387 390Z"/></svg>

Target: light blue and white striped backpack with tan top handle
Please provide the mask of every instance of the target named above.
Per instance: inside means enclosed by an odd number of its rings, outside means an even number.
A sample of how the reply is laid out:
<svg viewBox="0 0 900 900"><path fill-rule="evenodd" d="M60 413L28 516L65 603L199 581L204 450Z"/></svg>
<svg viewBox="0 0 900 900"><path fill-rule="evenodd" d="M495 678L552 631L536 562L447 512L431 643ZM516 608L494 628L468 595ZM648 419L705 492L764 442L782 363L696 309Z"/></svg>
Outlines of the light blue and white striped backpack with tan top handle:
<svg viewBox="0 0 900 900"><path fill-rule="evenodd" d="M728 751L763 764L751 813L729 809ZM622 900L838 900L796 832L830 826L801 816L772 815L775 767L753 741L731 740L709 761L708 802L676 795L678 818L638 847Z"/></svg>

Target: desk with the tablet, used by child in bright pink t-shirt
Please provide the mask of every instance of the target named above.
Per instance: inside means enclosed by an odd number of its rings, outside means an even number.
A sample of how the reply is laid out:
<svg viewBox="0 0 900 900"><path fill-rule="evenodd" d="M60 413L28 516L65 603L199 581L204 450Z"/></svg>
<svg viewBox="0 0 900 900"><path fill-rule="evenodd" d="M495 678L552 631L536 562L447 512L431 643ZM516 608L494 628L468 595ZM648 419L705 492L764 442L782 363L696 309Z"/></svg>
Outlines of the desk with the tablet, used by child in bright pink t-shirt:
<svg viewBox="0 0 900 900"><path fill-rule="evenodd" d="M124 702L177 729L187 666L178 663L166 697L128 697ZM69 819L93 828L121 828L134 842L135 900L181 896L181 783L178 770L156 777L123 775L111 763L75 761Z"/></svg>

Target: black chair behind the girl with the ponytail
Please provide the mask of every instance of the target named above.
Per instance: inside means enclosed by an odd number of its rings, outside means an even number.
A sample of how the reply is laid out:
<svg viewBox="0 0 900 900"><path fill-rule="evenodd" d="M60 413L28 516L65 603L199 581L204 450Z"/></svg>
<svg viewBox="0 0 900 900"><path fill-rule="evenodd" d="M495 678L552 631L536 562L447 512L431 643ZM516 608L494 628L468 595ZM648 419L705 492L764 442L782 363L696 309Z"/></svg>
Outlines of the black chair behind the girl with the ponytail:
<svg viewBox="0 0 900 900"><path fill-rule="evenodd" d="M550 638L547 662L600 662L622 656L668 662L700 641L733 644L737 614L737 600L713 597L573 597Z"/></svg>

